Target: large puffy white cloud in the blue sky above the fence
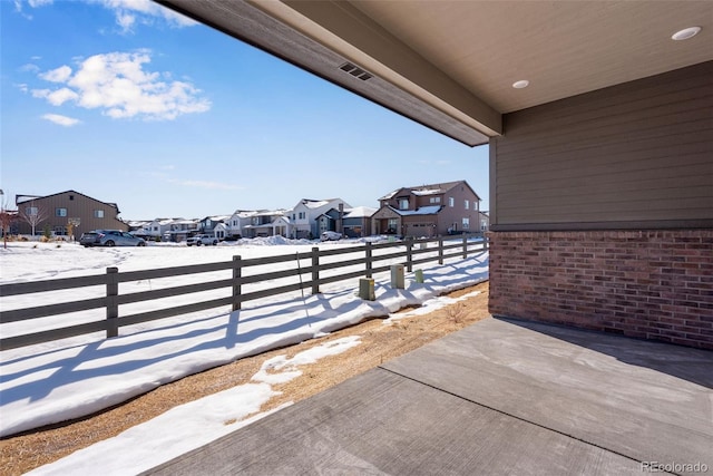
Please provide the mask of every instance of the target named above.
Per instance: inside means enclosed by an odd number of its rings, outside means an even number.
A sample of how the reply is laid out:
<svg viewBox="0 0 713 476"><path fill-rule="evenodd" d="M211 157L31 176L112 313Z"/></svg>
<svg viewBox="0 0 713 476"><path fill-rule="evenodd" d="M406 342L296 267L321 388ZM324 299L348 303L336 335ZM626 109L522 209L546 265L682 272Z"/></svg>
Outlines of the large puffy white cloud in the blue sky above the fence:
<svg viewBox="0 0 713 476"><path fill-rule="evenodd" d="M99 108L104 115L117 119L170 120L211 108L211 101L202 98L201 90L192 84L164 80L160 74L146 71L144 66L149 62L148 51L95 55L80 62L75 71L62 66L39 75L64 87L33 89L32 96L53 106L71 101L87 109ZM170 75L164 76L170 78Z"/></svg>

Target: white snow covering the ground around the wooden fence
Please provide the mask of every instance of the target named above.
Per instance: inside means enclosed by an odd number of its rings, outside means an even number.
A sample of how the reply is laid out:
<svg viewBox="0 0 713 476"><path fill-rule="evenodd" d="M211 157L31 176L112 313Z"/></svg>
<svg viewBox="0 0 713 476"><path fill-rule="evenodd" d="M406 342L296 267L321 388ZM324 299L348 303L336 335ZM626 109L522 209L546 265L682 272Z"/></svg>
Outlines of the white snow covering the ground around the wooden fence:
<svg viewBox="0 0 713 476"><path fill-rule="evenodd" d="M84 249L74 243L8 243L0 247L0 283L100 274L107 266L120 271L292 254L311 246L353 246L355 242L318 244L282 239L244 240L219 246L186 247L154 244L146 247ZM275 265L279 269L280 264ZM430 312L452 299L443 292L488 279L488 254L419 265L424 282L407 273L406 289L391 289L390 275L375 279L375 301L356 297L358 280L321 289L318 295L300 292L250 301L240 311L215 309L121 328L117 338L102 333L7 350L0 353L0 435L89 415L126 401L162 383L282 346L299 343L369 317L384 317L413 304L410 314ZM262 272L270 270L261 270ZM172 285L180 285L176 278ZM127 283L141 289L152 283ZM62 293L65 293L62 295ZM70 293L70 294L67 294ZM3 310L76 300L76 290L47 295L2 298ZM30 304L31 302L31 304ZM145 311L150 303L141 303ZM150 308L149 308L150 310ZM3 337L38 331L48 320L2 324ZM81 319L75 317L74 319ZM393 319L393 318L391 318ZM389 323L385 320L384 323ZM32 474L95 474L101 462L105 475L136 474L204 445L241 426L273 396L272 383L299 376L296 366L359 346L359 337L340 339L293 359L277 357L265 363L253 382L174 408L159 417L38 468ZM226 421L237 421L226 425ZM131 455L127 458L126 455Z"/></svg>

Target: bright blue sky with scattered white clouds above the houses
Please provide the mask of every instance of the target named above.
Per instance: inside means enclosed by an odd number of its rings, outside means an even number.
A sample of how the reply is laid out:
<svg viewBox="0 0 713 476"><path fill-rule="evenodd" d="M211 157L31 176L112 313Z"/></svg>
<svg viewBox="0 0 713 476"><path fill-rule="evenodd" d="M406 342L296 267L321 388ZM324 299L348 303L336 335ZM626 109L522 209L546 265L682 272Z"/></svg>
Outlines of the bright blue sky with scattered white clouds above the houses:
<svg viewBox="0 0 713 476"><path fill-rule="evenodd" d="M67 190L124 220L378 206L401 186L466 179L470 148L144 0L0 0L0 187ZM345 114L344 111L349 111Z"/></svg>

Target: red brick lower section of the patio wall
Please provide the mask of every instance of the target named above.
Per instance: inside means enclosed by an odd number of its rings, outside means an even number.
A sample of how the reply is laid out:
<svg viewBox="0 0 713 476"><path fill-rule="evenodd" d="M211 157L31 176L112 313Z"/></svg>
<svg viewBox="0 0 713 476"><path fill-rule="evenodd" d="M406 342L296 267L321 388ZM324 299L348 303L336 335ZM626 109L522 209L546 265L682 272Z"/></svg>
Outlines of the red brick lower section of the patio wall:
<svg viewBox="0 0 713 476"><path fill-rule="evenodd" d="M713 230L490 233L490 313L713 349Z"/></svg>

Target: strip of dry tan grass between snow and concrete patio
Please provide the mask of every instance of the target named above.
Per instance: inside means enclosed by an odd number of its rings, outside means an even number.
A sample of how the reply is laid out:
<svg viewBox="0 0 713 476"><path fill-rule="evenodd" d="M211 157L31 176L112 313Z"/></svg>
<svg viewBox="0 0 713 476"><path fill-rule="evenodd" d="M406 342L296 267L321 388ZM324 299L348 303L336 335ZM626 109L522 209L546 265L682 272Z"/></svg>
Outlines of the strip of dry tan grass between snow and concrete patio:
<svg viewBox="0 0 713 476"><path fill-rule="evenodd" d="M300 401L387 360L487 318L489 315L487 282L456 291L450 295L457 298L472 291L480 291L480 294L429 314L404 318L391 326L384 326L381 320L362 322L324 338L244 358L186 377L80 420L6 438L0 441L2 475L21 475L97 441L111 438L173 407L247 383L260 370L262 363L275 356L293 357L297 352L330 340L360 336L360 346L341 354L320 359L316 363L303 366L301 377L284 385L273 386L273 389L281 395L271 399L261 410L267 411L285 402Z"/></svg>

